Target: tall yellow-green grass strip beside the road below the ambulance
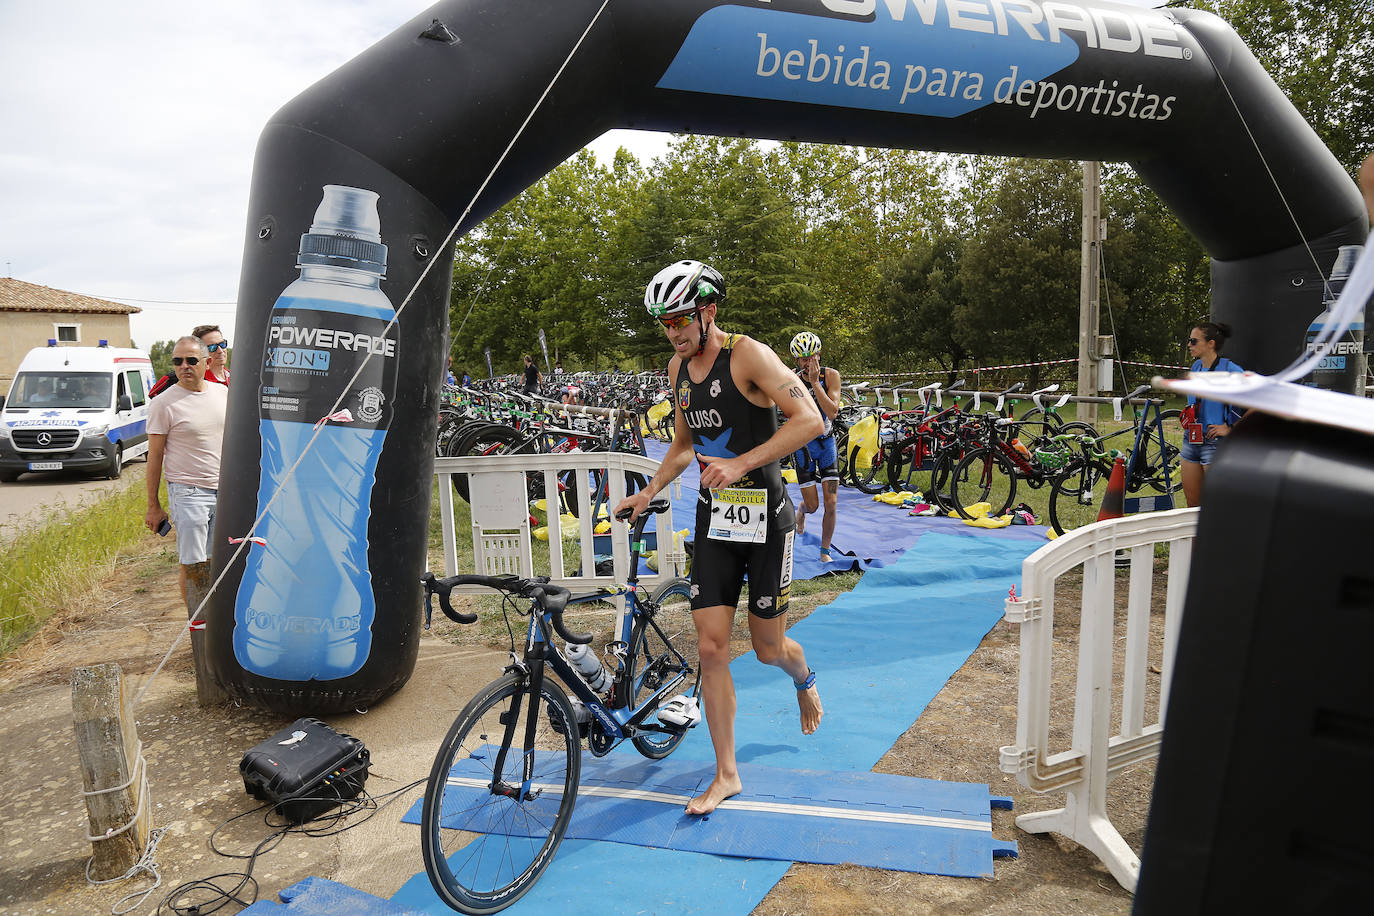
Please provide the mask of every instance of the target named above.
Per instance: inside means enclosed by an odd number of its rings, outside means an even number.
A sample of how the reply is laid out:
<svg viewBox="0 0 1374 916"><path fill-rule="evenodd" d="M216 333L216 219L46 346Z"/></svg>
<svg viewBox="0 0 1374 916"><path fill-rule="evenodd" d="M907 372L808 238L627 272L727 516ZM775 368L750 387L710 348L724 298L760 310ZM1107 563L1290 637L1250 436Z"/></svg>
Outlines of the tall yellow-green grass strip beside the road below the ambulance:
<svg viewBox="0 0 1374 916"><path fill-rule="evenodd" d="M0 544L0 656L78 600L89 582L109 575L115 559L147 537L146 500L135 482Z"/></svg>

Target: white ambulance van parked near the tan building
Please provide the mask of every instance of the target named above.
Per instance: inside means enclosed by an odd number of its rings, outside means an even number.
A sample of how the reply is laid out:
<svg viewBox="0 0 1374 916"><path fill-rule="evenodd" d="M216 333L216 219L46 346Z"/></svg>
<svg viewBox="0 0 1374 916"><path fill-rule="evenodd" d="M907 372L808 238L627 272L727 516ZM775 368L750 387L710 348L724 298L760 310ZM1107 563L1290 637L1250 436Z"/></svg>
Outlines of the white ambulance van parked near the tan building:
<svg viewBox="0 0 1374 916"><path fill-rule="evenodd" d="M0 481L25 471L85 470L109 478L148 450L153 363L142 350L29 350L0 407Z"/></svg>

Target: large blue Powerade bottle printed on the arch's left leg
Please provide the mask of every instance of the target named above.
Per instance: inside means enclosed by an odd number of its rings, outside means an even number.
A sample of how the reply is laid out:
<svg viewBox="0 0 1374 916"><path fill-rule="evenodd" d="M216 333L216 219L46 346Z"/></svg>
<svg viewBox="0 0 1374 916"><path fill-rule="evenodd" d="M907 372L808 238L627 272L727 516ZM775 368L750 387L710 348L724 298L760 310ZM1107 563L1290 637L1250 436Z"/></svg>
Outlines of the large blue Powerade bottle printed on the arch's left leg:
<svg viewBox="0 0 1374 916"><path fill-rule="evenodd" d="M367 523L397 336L386 330L396 312L381 290L376 194L326 185L297 264L301 279L273 305L262 356L257 505L271 508L257 529L267 545L250 549L235 597L234 655L264 677L327 681L363 667L376 614ZM306 452L345 389L349 417L327 420Z"/></svg>

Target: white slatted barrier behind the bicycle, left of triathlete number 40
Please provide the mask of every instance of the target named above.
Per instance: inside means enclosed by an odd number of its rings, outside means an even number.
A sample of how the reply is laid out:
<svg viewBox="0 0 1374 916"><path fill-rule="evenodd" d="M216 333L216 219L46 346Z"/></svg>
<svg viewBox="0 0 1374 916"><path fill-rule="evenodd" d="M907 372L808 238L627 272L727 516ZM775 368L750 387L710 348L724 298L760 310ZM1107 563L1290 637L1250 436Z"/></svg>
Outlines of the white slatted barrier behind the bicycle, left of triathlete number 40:
<svg viewBox="0 0 1374 916"><path fill-rule="evenodd" d="M440 516L444 526L444 574L480 573L482 575L534 575L534 542L530 526L526 474L541 475L548 507L548 541L540 551L548 551L550 581L573 591L589 592L599 586L624 584L629 574L629 529L624 522L607 519L610 509L625 497L627 474L639 474L644 481L658 471L658 461L643 455L624 452L567 452L559 455L497 455L477 457L441 457L434 460L434 474L440 488ZM576 489L578 571L573 574L563 562L562 526L559 520L559 478L567 474L578 481ZM455 475L467 475L471 508L473 555L459 558L458 529L453 518ZM676 486L676 482L675 482ZM594 488L607 488L605 512L592 518ZM666 494L666 493L665 493ZM598 522L610 520L609 536L596 536ZM640 582L653 591L660 582L680 575L686 569L686 552L673 534L673 515L669 508L654 518L658 571L642 575ZM598 537L610 548L613 573L596 574ZM572 540L572 538L570 538ZM475 585L455 589L460 593L484 593Z"/></svg>

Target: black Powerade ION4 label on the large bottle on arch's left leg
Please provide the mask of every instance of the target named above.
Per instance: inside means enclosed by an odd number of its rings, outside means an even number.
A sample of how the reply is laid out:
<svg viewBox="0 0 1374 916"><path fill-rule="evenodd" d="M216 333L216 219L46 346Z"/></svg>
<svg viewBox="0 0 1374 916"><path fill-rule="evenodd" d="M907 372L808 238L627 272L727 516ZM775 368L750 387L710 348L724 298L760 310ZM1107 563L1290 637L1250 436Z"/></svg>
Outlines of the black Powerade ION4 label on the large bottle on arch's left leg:
<svg viewBox="0 0 1374 916"><path fill-rule="evenodd" d="M396 391L396 325L387 331L382 317L293 309L291 302L278 301L268 323L260 416L311 424L331 417L350 428L385 430Z"/></svg>

